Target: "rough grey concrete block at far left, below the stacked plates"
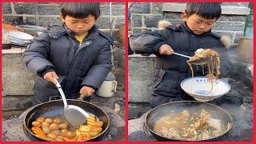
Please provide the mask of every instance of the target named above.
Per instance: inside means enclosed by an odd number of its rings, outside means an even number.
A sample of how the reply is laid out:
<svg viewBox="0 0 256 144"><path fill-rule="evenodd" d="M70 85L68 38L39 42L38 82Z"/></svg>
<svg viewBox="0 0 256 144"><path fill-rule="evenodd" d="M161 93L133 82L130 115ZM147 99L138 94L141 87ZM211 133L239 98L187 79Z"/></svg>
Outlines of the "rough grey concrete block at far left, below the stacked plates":
<svg viewBox="0 0 256 144"><path fill-rule="evenodd" d="M34 75L22 54L2 54L2 95L34 95Z"/></svg>

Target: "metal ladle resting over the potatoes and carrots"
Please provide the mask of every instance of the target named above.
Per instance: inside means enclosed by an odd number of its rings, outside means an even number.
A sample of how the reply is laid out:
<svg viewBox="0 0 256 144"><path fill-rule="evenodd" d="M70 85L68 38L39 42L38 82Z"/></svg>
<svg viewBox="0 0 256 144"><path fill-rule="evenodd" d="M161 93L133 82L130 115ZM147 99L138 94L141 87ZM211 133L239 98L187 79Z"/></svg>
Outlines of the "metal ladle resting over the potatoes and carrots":
<svg viewBox="0 0 256 144"><path fill-rule="evenodd" d="M58 80L55 79L55 86L58 88L59 93L62 96L64 102L64 118L66 122L69 122L71 126L78 127L83 125L86 122L86 118L89 118L90 115L86 113L82 108L74 105L67 105L65 94L62 90L62 86L59 84Z"/></svg>

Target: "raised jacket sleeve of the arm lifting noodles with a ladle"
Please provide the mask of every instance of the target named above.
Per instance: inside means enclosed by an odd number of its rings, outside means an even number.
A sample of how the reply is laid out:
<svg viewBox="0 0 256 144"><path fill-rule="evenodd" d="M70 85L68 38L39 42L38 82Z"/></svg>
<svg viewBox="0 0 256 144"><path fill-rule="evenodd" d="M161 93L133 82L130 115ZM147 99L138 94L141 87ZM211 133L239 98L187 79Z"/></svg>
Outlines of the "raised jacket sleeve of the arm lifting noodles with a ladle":
<svg viewBox="0 0 256 144"><path fill-rule="evenodd" d="M164 38L158 31L134 34L129 38L130 48L137 54L159 54Z"/></svg>

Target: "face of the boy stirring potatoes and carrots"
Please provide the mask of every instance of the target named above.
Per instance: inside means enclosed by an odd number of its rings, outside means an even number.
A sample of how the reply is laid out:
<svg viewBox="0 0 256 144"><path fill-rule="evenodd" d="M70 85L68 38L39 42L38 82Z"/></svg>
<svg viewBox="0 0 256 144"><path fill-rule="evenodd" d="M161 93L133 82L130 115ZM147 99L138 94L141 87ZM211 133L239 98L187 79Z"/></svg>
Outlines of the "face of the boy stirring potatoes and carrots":
<svg viewBox="0 0 256 144"><path fill-rule="evenodd" d="M66 26L74 32L74 34L85 34L89 31L96 21L94 16L88 15L86 18L73 18L66 15L65 18L62 16L62 21L66 23Z"/></svg>

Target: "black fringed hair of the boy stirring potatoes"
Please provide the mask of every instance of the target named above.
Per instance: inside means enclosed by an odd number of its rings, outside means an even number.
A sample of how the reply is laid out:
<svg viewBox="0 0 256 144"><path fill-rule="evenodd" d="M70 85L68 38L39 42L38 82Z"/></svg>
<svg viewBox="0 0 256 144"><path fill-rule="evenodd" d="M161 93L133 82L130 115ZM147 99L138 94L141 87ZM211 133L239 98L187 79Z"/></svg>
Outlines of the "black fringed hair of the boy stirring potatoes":
<svg viewBox="0 0 256 144"><path fill-rule="evenodd" d="M73 18L86 18L91 14L97 19L100 15L99 2L62 2L60 6L63 18L66 15Z"/></svg>

